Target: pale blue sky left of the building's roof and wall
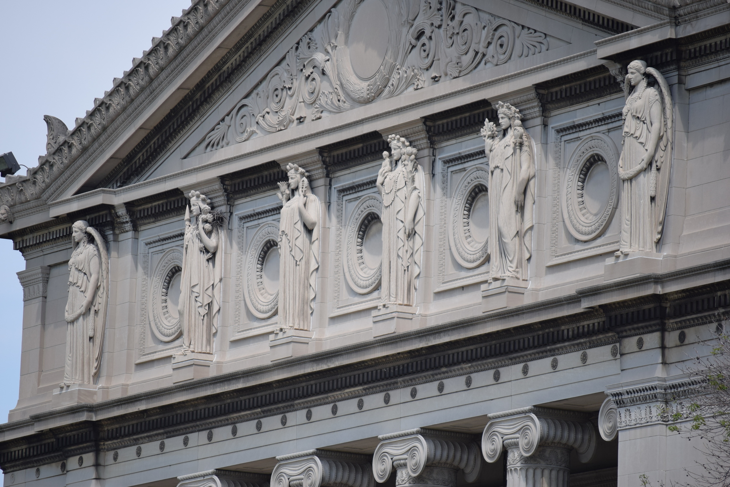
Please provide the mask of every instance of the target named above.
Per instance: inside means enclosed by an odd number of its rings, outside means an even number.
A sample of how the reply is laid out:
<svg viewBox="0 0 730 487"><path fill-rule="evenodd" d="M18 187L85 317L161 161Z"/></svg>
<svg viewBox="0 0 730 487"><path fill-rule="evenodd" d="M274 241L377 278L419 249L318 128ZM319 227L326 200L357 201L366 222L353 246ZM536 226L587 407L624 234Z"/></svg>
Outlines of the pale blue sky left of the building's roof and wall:
<svg viewBox="0 0 730 487"><path fill-rule="evenodd" d="M0 29L0 153L37 166L45 154L43 115L73 127L112 88L132 58L180 17L190 0L2 1ZM20 167L18 174L25 174ZM16 272L25 269L12 242L0 239L0 422L18 402L23 289Z"/></svg>

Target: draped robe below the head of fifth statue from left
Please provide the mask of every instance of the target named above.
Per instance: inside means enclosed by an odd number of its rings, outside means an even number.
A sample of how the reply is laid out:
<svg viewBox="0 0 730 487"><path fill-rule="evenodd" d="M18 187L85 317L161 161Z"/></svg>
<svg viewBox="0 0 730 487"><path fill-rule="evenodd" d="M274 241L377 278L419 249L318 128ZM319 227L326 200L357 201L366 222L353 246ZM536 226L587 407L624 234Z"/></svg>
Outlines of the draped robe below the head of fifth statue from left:
<svg viewBox="0 0 730 487"><path fill-rule="evenodd" d="M534 226L534 171L524 190L523 210L515 207L520 169L527 165L534 165L533 142L527 132L524 132L519 150L513 144L511 133L492 145L489 156L489 252L493 279L527 279Z"/></svg>

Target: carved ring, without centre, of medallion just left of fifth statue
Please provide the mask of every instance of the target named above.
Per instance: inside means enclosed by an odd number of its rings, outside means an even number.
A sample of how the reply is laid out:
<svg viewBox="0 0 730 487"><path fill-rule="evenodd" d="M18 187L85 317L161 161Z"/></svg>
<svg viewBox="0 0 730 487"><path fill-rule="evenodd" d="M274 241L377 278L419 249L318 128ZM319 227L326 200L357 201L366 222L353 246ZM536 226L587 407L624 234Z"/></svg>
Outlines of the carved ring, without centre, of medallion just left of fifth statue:
<svg viewBox="0 0 730 487"><path fill-rule="evenodd" d="M480 242L472 231L472 210L487 195L489 172L476 166L461 178L451 202L449 243L454 258L466 269L476 269L489 257L488 239Z"/></svg>

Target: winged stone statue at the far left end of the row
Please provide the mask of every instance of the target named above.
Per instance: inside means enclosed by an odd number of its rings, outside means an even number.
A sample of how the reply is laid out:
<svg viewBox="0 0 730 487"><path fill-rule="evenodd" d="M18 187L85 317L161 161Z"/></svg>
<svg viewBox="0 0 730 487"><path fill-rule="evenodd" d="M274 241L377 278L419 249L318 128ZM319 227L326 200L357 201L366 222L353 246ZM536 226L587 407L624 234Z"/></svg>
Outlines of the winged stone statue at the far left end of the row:
<svg viewBox="0 0 730 487"><path fill-rule="evenodd" d="M69 300L66 302L66 368L61 387L93 384L99 375L109 302L109 254L99 231L85 221L72 226Z"/></svg>

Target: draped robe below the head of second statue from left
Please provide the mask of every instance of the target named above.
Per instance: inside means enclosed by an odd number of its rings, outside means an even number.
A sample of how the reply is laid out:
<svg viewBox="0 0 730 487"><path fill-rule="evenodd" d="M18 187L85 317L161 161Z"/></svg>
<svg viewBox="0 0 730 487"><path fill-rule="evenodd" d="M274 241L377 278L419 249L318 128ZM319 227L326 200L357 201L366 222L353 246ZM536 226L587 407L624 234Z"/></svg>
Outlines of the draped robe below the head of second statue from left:
<svg viewBox="0 0 730 487"><path fill-rule="evenodd" d="M212 232L218 232L219 248L215 253L204 247L197 225L185 225L180 321L183 349L197 353L213 352L213 335L218 330L223 239L219 226L214 226Z"/></svg>

